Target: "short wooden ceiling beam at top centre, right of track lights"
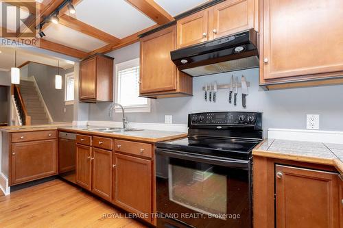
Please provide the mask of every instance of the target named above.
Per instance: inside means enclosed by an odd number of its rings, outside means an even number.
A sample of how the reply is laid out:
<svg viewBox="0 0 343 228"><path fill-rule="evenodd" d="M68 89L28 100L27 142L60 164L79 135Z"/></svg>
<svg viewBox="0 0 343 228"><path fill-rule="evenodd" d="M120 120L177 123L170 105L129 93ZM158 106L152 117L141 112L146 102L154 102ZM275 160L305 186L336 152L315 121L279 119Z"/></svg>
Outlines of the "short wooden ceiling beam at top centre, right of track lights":
<svg viewBox="0 0 343 228"><path fill-rule="evenodd" d="M156 22L158 25L164 25L168 22L174 21L174 18L163 10L160 5L158 5L153 0L126 0L128 3L137 8L137 10L143 12L146 16L150 17L152 21Z"/></svg>

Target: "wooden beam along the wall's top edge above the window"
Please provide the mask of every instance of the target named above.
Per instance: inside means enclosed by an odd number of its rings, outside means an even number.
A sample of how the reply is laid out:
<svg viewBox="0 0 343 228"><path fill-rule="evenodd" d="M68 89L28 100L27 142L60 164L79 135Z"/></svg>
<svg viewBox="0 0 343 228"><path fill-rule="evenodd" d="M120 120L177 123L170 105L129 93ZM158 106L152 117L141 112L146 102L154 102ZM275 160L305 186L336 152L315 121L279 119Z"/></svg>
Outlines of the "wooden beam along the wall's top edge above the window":
<svg viewBox="0 0 343 228"><path fill-rule="evenodd" d="M99 49L95 49L91 52L88 53L88 55L93 55L95 53L108 53L110 51L116 50L116 49L120 49L121 47L125 47L128 45L132 45L134 42L139 41L139 35L150 31L156 27L159 27L159 25L152 25L150 27L147 27L146 29L143 29L141 31L138 31L135 34L132 34L131 36L127 36L126 38L122 38L119 42L119 44L117 45L106 45L104 47L100 47Z"/></svg>

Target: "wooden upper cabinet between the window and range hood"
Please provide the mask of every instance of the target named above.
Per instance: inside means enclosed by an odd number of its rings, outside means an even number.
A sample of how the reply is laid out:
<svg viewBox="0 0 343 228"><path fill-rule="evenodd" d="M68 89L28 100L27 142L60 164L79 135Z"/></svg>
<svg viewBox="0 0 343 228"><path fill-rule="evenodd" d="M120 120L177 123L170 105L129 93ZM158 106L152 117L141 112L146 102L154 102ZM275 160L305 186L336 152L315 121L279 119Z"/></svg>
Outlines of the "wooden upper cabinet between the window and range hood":
<svg viewBox="0 0 343 228"><path fill-rule="evenodd" d="M170 59L176 49L176 26L141 38L139 93L143 97L178 97L193 93L192 78Z"/></svg>

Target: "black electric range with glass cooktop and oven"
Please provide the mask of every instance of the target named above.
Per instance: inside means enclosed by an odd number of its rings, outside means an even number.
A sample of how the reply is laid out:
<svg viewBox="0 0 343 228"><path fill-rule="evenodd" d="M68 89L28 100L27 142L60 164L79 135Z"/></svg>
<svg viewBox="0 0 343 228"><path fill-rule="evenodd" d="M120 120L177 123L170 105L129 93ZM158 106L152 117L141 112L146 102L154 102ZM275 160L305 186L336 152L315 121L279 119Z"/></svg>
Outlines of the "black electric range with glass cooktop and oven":
<svg viewBox="0 0 343 228"><path fill-rule="evenodd" d="M188 138L156 144L157 227L252 227L261 112L189 114L188 127Z"/></svg>

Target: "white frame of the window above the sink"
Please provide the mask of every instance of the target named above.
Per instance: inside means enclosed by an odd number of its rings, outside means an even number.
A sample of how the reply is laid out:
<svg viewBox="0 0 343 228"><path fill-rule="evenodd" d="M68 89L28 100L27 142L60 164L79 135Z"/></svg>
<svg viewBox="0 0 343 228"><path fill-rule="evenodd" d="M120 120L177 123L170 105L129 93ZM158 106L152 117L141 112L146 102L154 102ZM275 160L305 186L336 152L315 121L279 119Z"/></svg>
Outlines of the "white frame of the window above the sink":
<svg viewBox="0 0 343 228"><path fill-rule="evenodd" d="M115 103L118 102L119 97L119 89L118 89L118 72L123 71L126 68L132 68L135 66L140 66L139 64L139 58L135 58L133 60L128 60L125 62L119 62L118 64L115 64ZM141 77L141 75L139 75ZM130 105L130 106L123 106L125 109L125 112L151 112L151 102L150 99L147 98L147 104L146 105ZM115 112L121 112L120 107L115 107Z"/></svg>

